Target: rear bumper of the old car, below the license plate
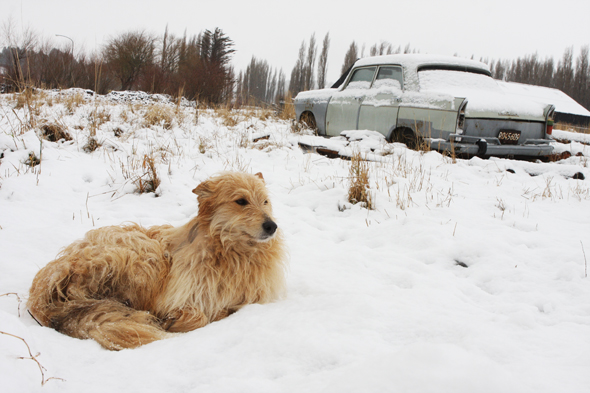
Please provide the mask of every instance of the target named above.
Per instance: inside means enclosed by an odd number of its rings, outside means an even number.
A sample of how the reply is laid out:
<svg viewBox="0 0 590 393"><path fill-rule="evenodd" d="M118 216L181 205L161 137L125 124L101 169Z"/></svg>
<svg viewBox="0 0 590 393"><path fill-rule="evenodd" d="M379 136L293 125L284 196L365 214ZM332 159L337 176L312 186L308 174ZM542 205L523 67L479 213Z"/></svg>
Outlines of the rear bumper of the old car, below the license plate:
<svg viewBox="0 0 590 393"><path fill-rule="evenodd" d="M502 145L497 138L475 138L452 134L447 141L431 139L430 147L440 152L469 156L544 157L553 152L550 142L548 139L533 139L518 145Z"/></svg>

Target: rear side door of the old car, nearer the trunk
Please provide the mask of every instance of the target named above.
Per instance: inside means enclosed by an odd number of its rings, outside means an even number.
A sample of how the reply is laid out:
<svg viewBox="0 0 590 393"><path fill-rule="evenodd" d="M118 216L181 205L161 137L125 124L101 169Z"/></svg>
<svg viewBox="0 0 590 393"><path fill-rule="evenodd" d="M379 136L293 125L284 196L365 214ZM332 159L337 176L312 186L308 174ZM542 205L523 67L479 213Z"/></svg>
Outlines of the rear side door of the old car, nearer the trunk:
<svg viewBox="0 0 590 393"><path fill-rule="evenodd" d="M381 66L361 103L357 127L388 136L397 122L402 97L403 70L400 66Z"/></svg>

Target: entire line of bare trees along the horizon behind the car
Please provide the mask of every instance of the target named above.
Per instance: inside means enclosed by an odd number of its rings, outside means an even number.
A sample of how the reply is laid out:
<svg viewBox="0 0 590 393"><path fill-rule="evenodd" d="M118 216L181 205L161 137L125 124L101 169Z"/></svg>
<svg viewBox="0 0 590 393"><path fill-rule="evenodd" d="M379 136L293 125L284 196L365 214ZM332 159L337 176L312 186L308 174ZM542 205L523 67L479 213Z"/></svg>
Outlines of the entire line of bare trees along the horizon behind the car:
<svg viewBox="0 0 590 393"><path fill-rule="evenodd" d="M234 42L219 28L197 35L176 37L168 32L155 36L131 30L111 38L96 53L74 54L51 41L42 41L30 29L16 34L10 21L3 26L5 46L0 51L0 74L17 90L24 86L44 88L80 87L99 94L112 90L142 90L181 95L205 104L279 105L300 91L327 87L330 35L318 43L315 33L303 40L290 78L282 69L252 56L236 76L231 65ZM66 37L67 38L67 37ZM395 47L381 41L369 47L369 56L418 53L410 44ZM537 53L513 60L480 58L495 79L556 88L590 110L589 45L574 60L574 47L566 48L559 60L540 58ZM341 74L365 57L365 45L353 41L344 56ZM472 56L473 59L473 56Z"/></svg>

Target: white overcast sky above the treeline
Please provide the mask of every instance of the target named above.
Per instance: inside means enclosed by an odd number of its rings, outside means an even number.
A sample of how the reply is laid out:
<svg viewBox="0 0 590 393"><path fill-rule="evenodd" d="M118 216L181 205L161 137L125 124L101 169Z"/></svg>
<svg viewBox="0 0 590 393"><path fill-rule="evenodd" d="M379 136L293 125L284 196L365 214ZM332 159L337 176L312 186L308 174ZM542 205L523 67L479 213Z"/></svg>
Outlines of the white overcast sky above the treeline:
<svg viewBox="0 0 590 393"><path fill-rule="evenodd" d="M590 0L0 0L0 20L31 27L58 45L86 52L109 37L145 29L182 36L221 28L235 43L236 73L252 56L287 75L301 42L330 33L328 79L337 79L354 40L360 48L388 41L421 53L513 59L537 52L561 58L590 44ZM321 46L318 45L318 52Z"/></svg>

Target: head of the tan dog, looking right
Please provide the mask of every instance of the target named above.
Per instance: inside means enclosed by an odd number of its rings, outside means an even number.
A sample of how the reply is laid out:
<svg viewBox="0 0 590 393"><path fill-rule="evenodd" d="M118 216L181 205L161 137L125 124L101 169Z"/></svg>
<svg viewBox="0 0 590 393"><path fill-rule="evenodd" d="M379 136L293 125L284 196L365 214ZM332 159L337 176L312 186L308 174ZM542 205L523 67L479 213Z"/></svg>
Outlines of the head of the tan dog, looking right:
<svg viewBox="0 0 590 393"><path fill-rule="evenodd" d="M199 201L199 221L222 242L266 242L275 236L277 224L261 173L223 173L193 192Z"/></svg>

